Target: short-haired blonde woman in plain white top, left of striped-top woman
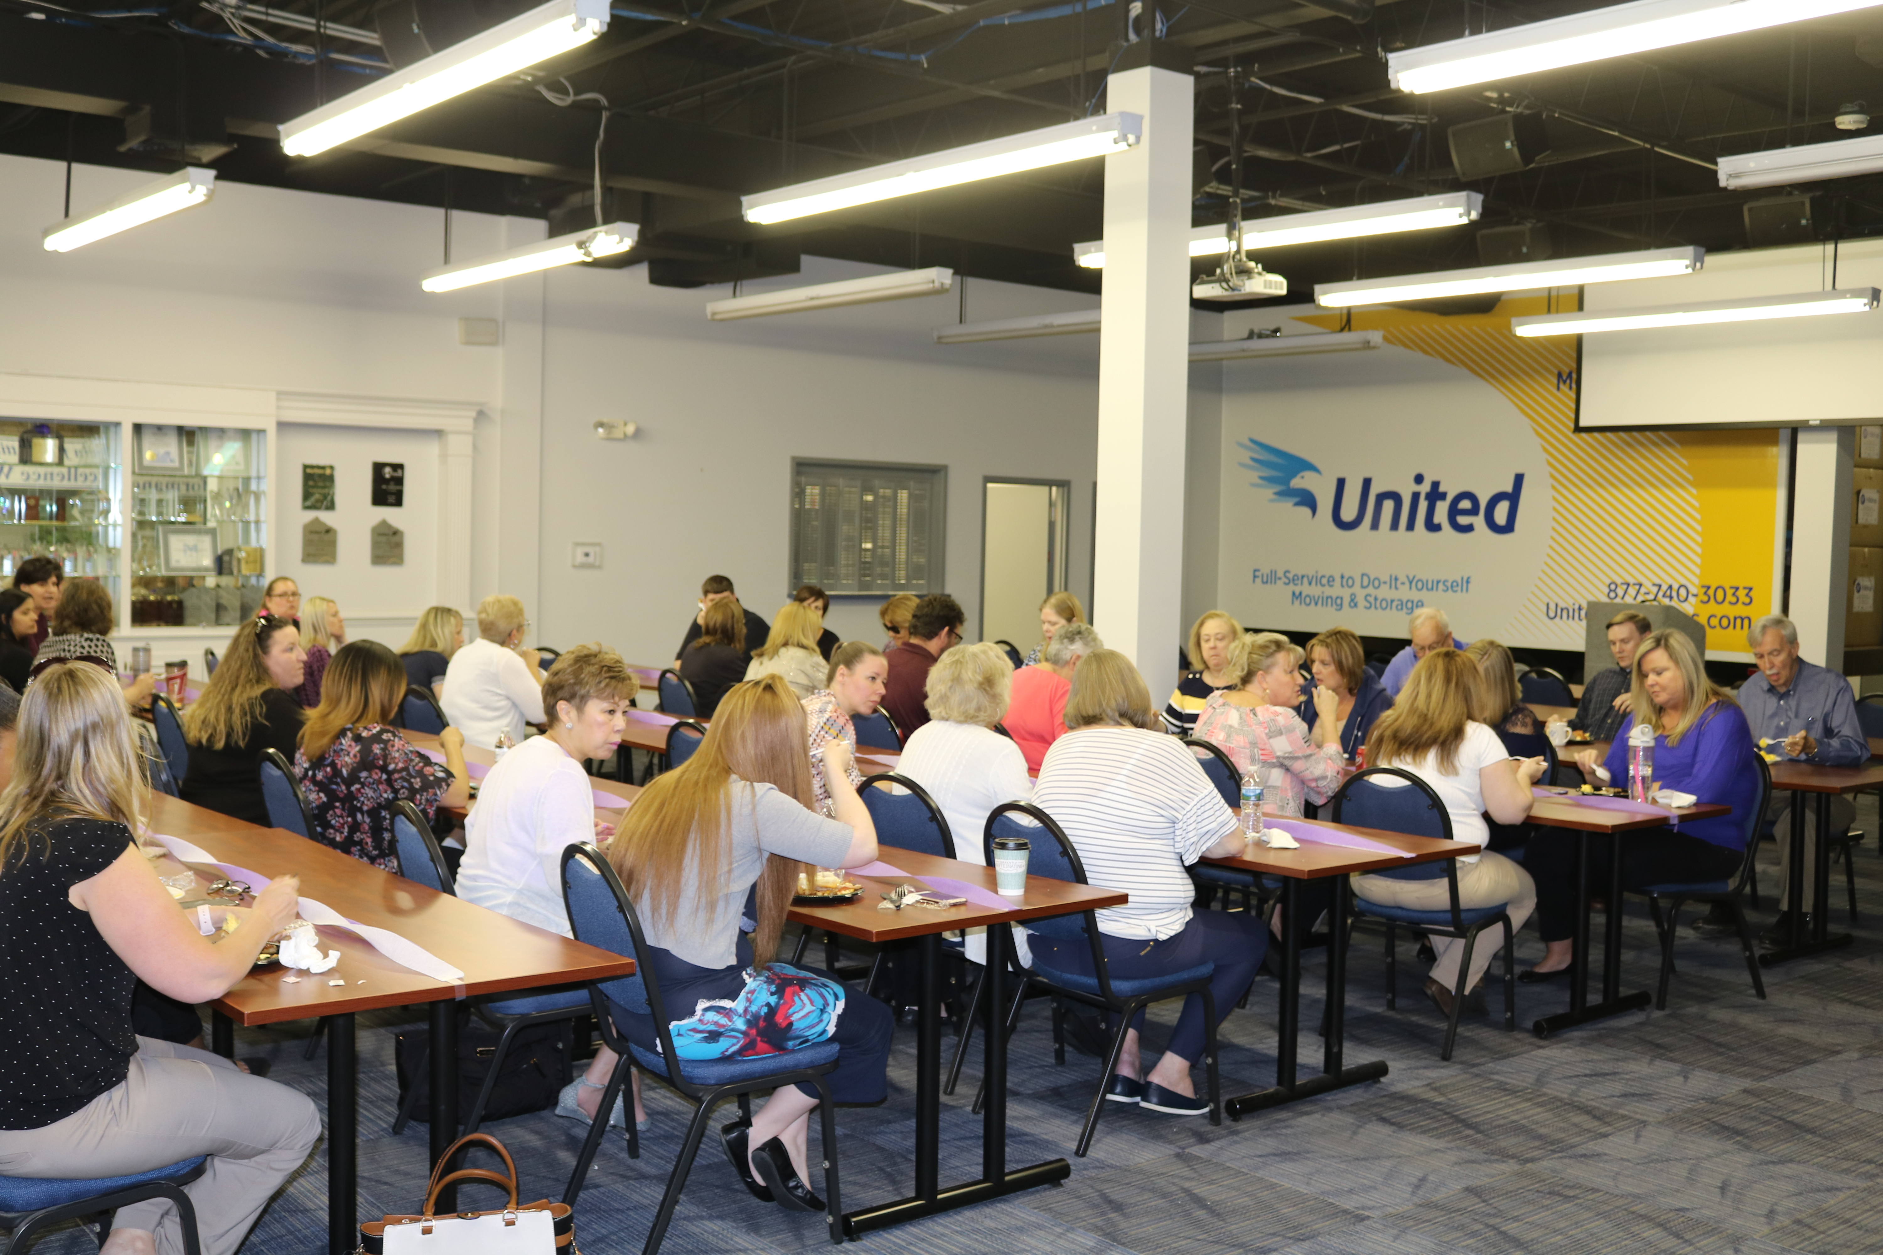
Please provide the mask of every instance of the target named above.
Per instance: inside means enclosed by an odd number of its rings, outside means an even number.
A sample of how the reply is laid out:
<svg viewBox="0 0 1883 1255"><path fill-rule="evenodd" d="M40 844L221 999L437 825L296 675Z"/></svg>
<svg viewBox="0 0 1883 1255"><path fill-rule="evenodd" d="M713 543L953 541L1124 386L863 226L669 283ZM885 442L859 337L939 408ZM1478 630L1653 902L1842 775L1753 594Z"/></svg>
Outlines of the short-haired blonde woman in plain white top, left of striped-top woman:
<svg viewBox="0 0 1883 1255"><path fill-rule="evenodd" d="M1006 649L992 642L943 653L928 670L928 723L909 736L896 760L896 775L908 775L942 807L955 834L955 856L968 864L987 862L981 845L987 813L1002 802L1034 796L1019 743L994 732L1007 713L1013 674ZM1026 961L1019 931L1013 941ZM968 931L966 954L972 963L987 961L987 929Z"/></svg>

